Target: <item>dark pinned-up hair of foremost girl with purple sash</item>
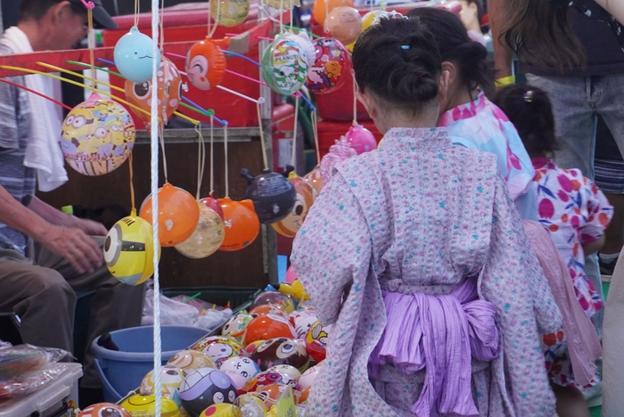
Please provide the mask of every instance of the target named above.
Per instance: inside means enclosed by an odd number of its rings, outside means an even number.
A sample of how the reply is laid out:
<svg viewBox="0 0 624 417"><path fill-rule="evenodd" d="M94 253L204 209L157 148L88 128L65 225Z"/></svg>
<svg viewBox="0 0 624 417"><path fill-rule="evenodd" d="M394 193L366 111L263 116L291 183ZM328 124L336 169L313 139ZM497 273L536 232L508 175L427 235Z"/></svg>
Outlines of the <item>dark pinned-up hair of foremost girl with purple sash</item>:
<svg viewBox="0 0 624 417"><path fill-rule="evenodd" d="M435 37L419 22L382 18L357 38L353 70L363 93L415 115L438 96L442 61Z"/></svg>

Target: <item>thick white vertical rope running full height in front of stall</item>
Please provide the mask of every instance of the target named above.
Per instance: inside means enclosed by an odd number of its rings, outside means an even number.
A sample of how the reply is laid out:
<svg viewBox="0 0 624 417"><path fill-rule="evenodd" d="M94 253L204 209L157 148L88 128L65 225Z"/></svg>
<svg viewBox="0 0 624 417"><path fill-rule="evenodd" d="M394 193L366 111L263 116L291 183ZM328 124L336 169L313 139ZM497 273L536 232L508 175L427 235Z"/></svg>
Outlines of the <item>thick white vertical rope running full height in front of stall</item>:
<svg viewBox="0 0 624 417"><path fill-rule="evenodd" d="M159 39L159 16L160 9L158 0L152 0L152 56L160 53ZM158 136L159 136L159 106L158 106L158 60L152 60L152 129L151 134L151 151L152 151L152 227L153 227L153 265L154 265L154 399L155 399L155 417L161 416L161 396L162 382L160 375L162 347L160 340L160 271L158 269L159 258L159 230L158 230Z"/></svg>

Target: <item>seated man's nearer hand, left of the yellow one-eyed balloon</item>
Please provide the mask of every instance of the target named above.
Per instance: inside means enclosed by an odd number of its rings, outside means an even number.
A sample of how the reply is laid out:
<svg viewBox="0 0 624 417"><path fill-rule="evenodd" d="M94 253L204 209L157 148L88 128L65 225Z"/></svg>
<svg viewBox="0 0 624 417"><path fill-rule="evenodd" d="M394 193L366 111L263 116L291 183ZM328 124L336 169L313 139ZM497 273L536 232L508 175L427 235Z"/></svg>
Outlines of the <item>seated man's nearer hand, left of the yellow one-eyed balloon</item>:
<svg viewBox="0 0 624 417"><path fill-rule="evenodd" d="M90 220L85 222L95 223ZM103 226L102 229L106 233ZM95 267L102 266L102 250L92 238L77 227L52 225L42 233L39 241L45 248L67 259L79 274L93 273Z"/></svg>

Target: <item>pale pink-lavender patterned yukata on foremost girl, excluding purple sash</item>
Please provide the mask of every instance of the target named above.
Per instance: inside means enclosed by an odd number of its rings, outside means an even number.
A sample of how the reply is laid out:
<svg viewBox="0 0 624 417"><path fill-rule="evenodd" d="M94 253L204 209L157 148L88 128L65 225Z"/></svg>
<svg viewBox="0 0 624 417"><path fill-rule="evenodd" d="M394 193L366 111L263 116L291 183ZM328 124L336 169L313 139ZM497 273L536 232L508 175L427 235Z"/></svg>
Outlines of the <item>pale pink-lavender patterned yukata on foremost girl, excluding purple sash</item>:
<svg viewBox="0 0 624 417"><path fill-rule="evenodd" d="M406 374L384 364L376 378L368 372L384 331L414 324L388 322L384 298L442 300L467 280L494 307L500 352L491 362L472 358L472 378L470 358L466 375L446 358L457 352L437 356L444 364L431 372L448 378L439 380L443 388L429 386L431 415L453 388L472 403L460 415L554 415L538 335L558 329L561 314L494 155L453 145L444 128L390 129L379 150L334 168L291 263L321 322L333 324L307 416L414 416L429 368Z"/></svg>

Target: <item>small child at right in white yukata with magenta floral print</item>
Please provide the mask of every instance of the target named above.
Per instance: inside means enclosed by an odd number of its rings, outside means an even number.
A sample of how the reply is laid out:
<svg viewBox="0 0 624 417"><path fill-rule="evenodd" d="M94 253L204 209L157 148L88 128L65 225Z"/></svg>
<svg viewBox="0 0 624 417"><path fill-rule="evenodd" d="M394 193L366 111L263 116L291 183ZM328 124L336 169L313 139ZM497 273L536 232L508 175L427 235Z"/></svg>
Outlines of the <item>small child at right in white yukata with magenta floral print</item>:
<svg viewBox="0 0 624 417"><path fill-rule="evenodd" d="M555 165L552 159L557 149L553 109L544 91L533 86L508 86L497 93L495 102L517 127L529 151L535 168L532 186L538 198L539 223L550 232L568 266L579 304L591 318L603 308L603 299L585 274L585 257L603 246L603 233L611 221L613 208L603 192L579 169L562 169ZM585 399L577 389L579 385L572 372L563 331L544 336L543 347L557 404L580 409ZM596 375L585 388L599 381ZM560 412L559 415L584 414Z"/></svg>

